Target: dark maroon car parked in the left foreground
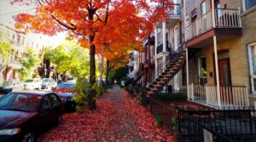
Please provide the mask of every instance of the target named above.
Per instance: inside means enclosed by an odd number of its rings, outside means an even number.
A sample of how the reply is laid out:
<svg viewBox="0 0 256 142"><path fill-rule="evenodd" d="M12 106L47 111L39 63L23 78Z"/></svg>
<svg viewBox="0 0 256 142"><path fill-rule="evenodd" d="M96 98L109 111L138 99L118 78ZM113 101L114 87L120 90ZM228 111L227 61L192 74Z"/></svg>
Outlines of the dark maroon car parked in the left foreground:
<svg viewBox="0 0 256 142"><path fill-rule="evenodd" d="M60 124L61 99L54 93L20 91L0 98L0 141L32 142L42 130Z"/></svg>

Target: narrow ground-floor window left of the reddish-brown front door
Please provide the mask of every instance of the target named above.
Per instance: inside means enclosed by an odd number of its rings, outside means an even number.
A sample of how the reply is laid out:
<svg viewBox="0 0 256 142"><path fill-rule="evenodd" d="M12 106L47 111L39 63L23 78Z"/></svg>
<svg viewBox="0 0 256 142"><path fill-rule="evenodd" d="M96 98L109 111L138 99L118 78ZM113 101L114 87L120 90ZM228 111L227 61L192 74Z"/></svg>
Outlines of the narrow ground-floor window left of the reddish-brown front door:
<svg viewBox="0 0 256 142"><path fill-rule="evenodd" d="M200 57L198 59L198 77L200 84L207 83L207 58Z"/></svg>

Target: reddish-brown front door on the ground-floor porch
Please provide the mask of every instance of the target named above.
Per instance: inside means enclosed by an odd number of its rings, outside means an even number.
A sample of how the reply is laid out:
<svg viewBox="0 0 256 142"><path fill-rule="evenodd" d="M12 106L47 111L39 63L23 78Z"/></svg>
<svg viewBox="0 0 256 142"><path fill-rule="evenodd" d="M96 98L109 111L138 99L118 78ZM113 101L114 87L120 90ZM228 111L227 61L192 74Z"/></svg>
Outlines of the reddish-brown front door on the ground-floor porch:
<svg viewBox="0 0 256 142"><path fill-rule="evenodd" d="M218 73L221 99L225 104L232 104L230 59L218 60Z"/></svg>

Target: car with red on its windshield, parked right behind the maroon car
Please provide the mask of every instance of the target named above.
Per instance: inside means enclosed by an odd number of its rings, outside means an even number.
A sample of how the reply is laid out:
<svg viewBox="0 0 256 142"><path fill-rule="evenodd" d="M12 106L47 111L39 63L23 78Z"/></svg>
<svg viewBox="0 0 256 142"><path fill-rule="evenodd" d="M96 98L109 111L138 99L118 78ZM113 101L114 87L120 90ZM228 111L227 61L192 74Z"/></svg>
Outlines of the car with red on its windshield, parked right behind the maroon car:
<svg viewBox="0 0 256 142"><path fill-rule="evenodd" d="M77 93L73 88L76 86L74 82L61 82L56 88L52 89L52 92L58 94L62 101L65 102L65 110L73 111L76 106L76 102L73 100L74 94Z"/></svg>

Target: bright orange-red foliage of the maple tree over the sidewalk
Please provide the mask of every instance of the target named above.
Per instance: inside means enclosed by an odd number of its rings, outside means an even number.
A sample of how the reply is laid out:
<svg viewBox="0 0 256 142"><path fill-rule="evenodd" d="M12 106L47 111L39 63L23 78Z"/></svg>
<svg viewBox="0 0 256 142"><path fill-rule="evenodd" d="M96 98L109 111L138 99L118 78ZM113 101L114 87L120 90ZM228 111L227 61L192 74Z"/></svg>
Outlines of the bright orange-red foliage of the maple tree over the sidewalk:
<svg viewBox="0 0 256 142"><path fill-rule="evenodd" d="M156 22L166 20L166 9L172 9L172 0L12 0L12 3L37 7L36 14L16 15L17 27L49 36L67 31L84 48L94 44L96 54L108 60L134 49L143 50L143 39ZM165 4L157 6L158 3ZM92 43L90 36L94 37Z"/></svg>

